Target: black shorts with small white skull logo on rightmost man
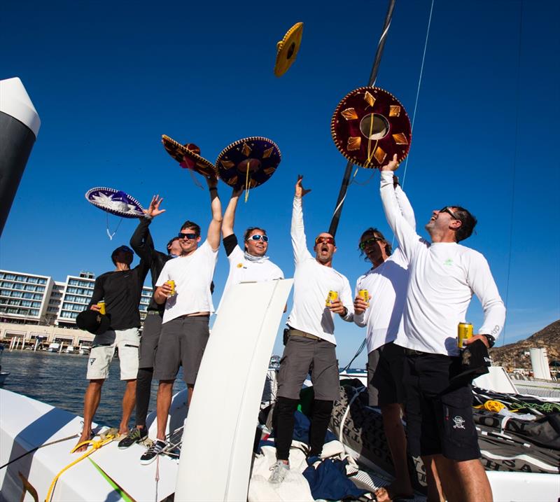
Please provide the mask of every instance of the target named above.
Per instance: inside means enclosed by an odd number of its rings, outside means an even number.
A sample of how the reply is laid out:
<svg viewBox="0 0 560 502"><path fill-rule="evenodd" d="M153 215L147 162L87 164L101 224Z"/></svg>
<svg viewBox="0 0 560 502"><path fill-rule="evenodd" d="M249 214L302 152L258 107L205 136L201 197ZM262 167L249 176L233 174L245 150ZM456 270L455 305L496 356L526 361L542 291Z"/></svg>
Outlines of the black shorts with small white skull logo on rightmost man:
<svg viewBox="0 0 560 502"><path fill-rule="evenodd" d="M478 435L472 420L472 389L447 391L459 372L458 357L442 354L407 355L407 440L412 456L442 454L447 459L479 459Z"/></svg>

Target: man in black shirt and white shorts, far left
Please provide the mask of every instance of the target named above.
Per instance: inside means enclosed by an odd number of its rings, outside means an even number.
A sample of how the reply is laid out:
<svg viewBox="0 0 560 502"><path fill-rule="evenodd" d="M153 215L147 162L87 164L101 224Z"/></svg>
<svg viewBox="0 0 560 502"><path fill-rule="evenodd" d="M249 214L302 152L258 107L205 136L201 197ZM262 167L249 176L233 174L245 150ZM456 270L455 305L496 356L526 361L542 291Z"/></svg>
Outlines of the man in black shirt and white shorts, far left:
<svg viewBox="0 0 560 502"><path fill-rule="evenodd" d="M92 420L99 400L103 382L109 375L109 365L118 347L120 379L126 380L123 396L123 418L119 433L128 432L128 421L136 403L136 377L138 372L138 347L140 344L140 312L138 306L142 286L150 270L146 260L130 269L134 253L127 246L120 246L111 254L116 270L106 272L95 279L89 308L99 312L97 303L105 302L106 314L111 321L109 330L95 335L90 358L87 361L87 379L90 383L85 391L83 431L78 443L87 441L92 433ZM78 448L82 452L86 446Z"/></svg>

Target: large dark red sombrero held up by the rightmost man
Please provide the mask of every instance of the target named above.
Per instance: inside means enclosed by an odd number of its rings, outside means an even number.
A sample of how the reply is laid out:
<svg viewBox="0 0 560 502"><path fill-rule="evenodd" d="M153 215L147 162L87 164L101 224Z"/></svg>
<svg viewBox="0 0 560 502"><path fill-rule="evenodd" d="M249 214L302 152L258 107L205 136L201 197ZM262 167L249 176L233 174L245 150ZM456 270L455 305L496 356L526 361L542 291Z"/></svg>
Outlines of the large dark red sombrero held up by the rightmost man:
<svg viewBox="0 0 560 502"><path fill-rule="evenodd" d="M353 164L376 168L408 155L412 130L405 107L390 92L361 87L339 102L330 122L332 139Z"/></svg>

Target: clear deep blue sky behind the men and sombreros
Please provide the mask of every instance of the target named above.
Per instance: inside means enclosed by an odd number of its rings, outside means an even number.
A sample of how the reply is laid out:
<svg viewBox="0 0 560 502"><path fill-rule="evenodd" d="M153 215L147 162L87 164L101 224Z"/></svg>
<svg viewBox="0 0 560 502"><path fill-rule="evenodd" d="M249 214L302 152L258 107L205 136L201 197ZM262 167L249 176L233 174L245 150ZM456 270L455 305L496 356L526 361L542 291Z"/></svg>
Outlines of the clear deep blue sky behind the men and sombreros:
<svg viewBox="0 0 560 502"><path fill-rule="evenodd" d="M429 11L428 0L397 1L377 80L410 116ZM283 160L240 204L236 229L267 228L269 254L290 277L293 184L302 173L312 189L307 235L326 230L346 165L330 117L367 83L385 12L377 0L4 4L0 78L22 79L42 125L3 232L1 267L57 280L110 270L111 251L137 222L123 221L111 242L105 213L84 199L94 186L146 205L164 196L167 212L151 228L160 249L187 218L205 228L207 190L167 155L161 135L196 143L211 161L232 141L258 135L276 141ZM446 204L479 218L465 244L484 253L507 299L506 342L560 317L559 18L556 0L524 1L519 53L519 1L435 1L407 167L422 235L430 211ZM276 78L276 41L297 21L300 53ZM390 235L379 173L360 168L356 181L334 262L351 284L368 268L356 249L360 232L377 225ZM219 190L225 205L230 188ZM118 222L109 217L111 228ZM227 272L221 251L216 304ZM479 326L476 299L469 318ZM337 322L336 335L345 364L364 332Z"/></svg>

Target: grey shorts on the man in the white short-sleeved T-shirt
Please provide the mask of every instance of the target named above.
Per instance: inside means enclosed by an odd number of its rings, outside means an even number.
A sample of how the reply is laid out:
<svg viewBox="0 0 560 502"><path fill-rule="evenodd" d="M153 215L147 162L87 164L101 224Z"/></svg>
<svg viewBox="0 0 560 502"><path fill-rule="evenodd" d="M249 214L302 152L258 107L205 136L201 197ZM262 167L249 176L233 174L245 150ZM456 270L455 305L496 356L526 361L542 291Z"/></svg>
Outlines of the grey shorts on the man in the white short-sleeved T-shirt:
<svg viewBox="0 0 560 502"><path fill-rule="evenodd" d="M194 385L209 338L208 316L178 317L162 324L153 377L174 380L183 366L183 380Z"/></svg>

